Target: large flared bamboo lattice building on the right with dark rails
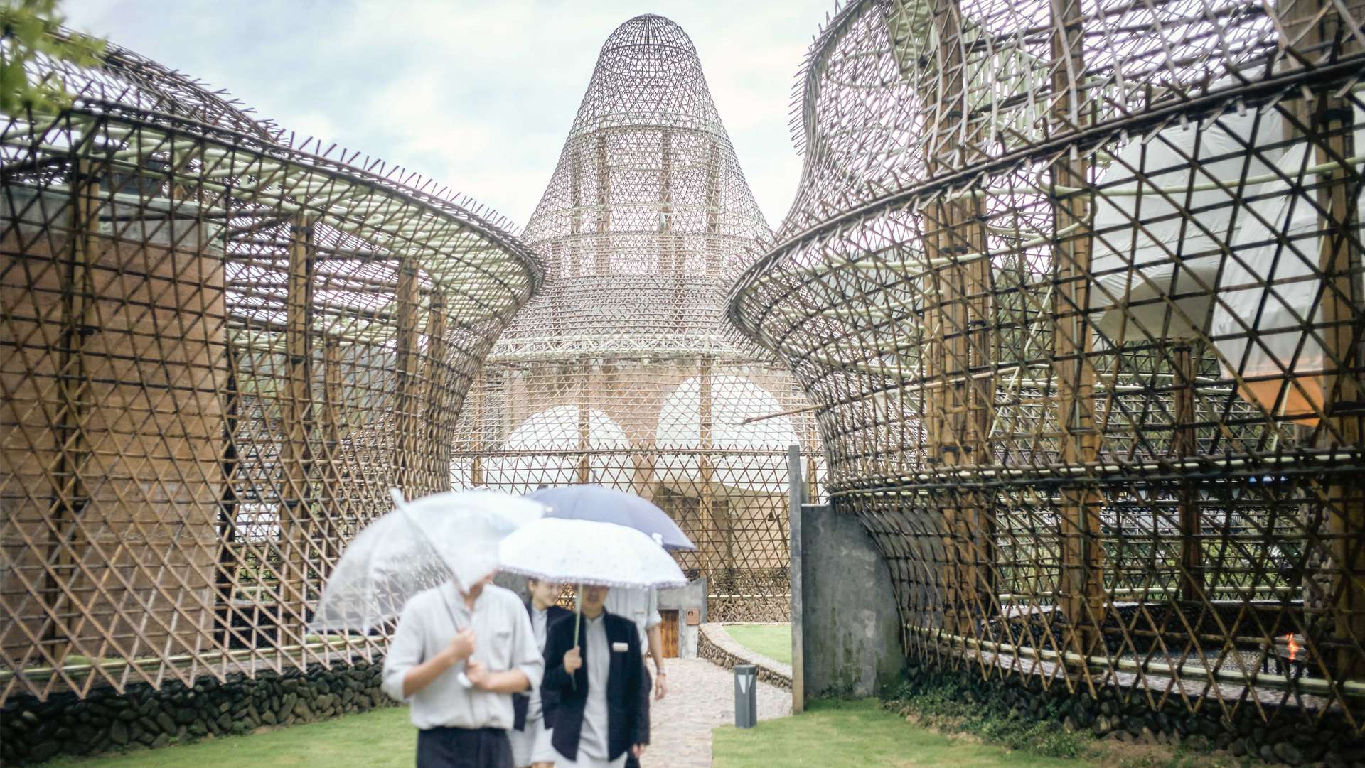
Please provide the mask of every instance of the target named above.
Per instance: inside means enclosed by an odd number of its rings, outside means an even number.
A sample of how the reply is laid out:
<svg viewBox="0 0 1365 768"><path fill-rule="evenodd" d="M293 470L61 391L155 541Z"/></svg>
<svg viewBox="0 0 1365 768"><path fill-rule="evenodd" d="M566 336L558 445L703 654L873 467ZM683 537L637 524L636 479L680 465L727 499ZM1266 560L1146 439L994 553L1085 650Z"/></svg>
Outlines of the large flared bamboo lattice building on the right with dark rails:
<svg viewBox="0 0 1365 768"><path fill-rule="evenodd" d="M867 0L818 35L730 312L819 404L913 659L1362 727L1362 8Z"/></svg>

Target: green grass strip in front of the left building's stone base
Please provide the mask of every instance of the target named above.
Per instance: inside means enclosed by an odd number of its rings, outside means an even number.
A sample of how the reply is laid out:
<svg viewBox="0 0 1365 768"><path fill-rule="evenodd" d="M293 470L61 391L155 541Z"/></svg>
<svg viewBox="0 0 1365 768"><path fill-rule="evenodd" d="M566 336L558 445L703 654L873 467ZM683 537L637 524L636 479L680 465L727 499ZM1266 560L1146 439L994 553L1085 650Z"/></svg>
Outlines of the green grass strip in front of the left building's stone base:
<svg viewBox="0 0 1365 768"><path fill-rule="evenodd" d="M60 758L45 768L411 768L416 734L407 707L386 707L254 735Z"/></svg>

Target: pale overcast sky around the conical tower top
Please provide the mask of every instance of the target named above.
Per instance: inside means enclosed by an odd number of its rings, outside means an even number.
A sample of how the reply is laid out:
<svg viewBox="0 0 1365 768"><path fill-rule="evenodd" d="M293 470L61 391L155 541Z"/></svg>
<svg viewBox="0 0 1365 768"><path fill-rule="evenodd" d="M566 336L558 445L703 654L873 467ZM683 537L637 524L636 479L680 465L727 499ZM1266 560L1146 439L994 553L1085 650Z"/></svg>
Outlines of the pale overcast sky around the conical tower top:
<svg viewBox="0 0 1365 768"><path fill-rule="evenodd" d="M598 50L659 14L692 37L768 225L800 158L792 86L833 0L66 0L68 26L227 89L300 135L404 165L526 224Z"/></svg>

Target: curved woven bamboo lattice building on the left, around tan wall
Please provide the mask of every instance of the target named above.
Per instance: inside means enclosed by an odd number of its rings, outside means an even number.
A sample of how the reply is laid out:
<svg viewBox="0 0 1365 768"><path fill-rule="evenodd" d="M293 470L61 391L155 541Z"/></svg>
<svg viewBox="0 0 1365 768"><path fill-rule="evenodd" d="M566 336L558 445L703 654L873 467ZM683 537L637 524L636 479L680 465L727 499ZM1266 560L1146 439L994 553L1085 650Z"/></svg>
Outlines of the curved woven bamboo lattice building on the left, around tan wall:
<svg viewBox="0 0 1365 768"><path fill-rule="evenodd" d="M347 537L449 488L541 280L444 190L111 48L0 123L0 700L382 651L304 633Z"/></svg>

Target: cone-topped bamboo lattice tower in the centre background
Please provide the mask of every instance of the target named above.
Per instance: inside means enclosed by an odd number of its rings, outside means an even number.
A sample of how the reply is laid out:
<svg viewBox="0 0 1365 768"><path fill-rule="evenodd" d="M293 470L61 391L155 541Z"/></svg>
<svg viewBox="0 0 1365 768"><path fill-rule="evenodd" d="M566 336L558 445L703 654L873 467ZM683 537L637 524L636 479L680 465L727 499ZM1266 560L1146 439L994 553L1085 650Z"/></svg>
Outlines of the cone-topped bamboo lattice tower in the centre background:
<svg viewBox="0 0 1365 768"><path fill-rule="evenodd" d="M632 490L698 544L713 621L785 619L786 449L816 449L814 419L725 322L770 231L676 23L607 38L524 237L551 282L471 393L455 486Z"/></svg>

